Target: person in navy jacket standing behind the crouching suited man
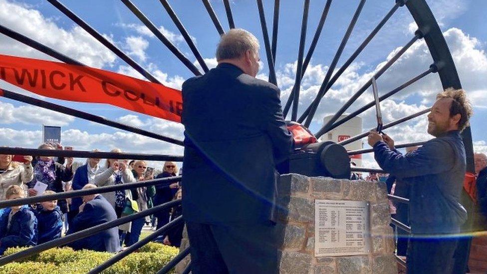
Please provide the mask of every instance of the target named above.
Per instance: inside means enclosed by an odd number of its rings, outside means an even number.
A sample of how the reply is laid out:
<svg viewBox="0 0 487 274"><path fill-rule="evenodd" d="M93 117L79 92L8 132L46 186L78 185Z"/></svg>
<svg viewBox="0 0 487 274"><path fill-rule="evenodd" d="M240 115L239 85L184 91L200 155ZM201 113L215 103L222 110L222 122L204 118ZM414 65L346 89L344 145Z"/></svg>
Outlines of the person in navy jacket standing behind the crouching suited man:
<svg viewBox="0 0 487 274"><path fill-rule="evenodd" d="M91 152L98 151L99 150L94 149ZM98 165L99 162L99 158L88 158L85 165L77 168L73 176L71 190L80 190L86 184L92 184L95 176L101 172L101 168ZM69 213L67 215L68 224L74 219L76 214L79 213L79 206L81 206L81 204L83 204L81 197L74 197L71 199L71 206L69 207Z"/></svg>

